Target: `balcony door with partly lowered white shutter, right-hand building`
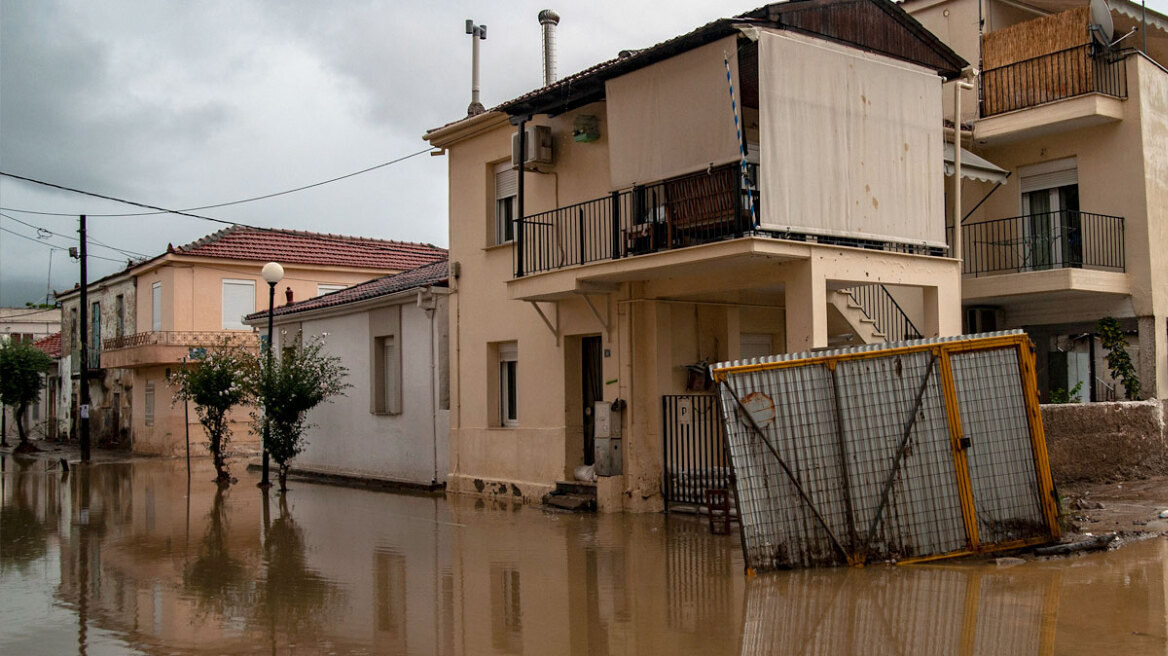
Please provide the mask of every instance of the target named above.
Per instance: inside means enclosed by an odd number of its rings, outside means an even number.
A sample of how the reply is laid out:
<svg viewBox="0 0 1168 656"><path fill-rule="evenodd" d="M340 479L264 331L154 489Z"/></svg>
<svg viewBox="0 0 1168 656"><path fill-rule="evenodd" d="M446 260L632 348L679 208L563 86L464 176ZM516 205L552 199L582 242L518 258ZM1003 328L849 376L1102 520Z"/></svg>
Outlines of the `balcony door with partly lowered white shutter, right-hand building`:
<svg viewBox="0 0 1168 656"><path fill-rule="evenodd" d="M1023 167L1023 271L1083 265L1078 170L1073 158Z"/></svg>

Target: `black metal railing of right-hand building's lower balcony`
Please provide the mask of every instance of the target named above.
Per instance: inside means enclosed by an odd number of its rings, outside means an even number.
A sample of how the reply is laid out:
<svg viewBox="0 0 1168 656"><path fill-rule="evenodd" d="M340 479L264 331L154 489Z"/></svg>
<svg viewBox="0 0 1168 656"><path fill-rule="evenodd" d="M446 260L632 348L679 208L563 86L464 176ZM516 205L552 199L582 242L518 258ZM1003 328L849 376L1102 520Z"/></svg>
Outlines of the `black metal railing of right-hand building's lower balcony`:
<svg viewBox="0 0 1168 656"><path fill-rule="evenodd" d="M1124 271L1124 217L1063 210L961 226L965 274L1101 268Z"/></svg>

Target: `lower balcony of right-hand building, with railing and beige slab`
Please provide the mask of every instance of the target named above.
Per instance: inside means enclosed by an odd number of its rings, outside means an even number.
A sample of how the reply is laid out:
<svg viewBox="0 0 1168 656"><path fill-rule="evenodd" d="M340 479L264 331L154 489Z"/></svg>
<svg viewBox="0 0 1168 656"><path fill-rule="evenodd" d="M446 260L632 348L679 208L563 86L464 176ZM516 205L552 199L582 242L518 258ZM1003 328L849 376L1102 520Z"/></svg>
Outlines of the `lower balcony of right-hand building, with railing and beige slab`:
<svg viewBox="0 0 1168 656"><path fill-rule="evenodd" d="M1064 210L961 226L962 299L1125 294L1124 218ZM1003 280L1007 274L1023 274ZM1037 298L1037 296L1036 296Z"/></svg>

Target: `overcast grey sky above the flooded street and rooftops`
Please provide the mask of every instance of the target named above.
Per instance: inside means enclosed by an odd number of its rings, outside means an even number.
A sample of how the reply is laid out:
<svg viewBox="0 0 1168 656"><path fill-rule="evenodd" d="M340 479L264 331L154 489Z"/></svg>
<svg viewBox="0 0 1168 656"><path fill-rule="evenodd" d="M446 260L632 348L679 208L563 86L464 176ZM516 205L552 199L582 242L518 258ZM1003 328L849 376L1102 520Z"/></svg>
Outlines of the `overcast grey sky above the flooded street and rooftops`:
<svg viewBox="0 0 1168 656"><path fill-rule="evenodd" d="M536 14L548 6L562 16L565 76L758 4L0 0L0 170L167 208L270 194L422 151L427 128L465 116L466 19L488 27L491 107L541 85ZM1148 6L1168 11L1168 0ZM58 233L36 239L0 216L4 306L72 286L76 263L49 244L76 244L76 215L141 211L11 179L0 179L0 208ZM446 160L423 154L197 214L446 246ZM89 221L96 240L148 256L220 228L173 215ZM90 252L120 260L95 257L90 279L125 265L117 251Z"/></svg>

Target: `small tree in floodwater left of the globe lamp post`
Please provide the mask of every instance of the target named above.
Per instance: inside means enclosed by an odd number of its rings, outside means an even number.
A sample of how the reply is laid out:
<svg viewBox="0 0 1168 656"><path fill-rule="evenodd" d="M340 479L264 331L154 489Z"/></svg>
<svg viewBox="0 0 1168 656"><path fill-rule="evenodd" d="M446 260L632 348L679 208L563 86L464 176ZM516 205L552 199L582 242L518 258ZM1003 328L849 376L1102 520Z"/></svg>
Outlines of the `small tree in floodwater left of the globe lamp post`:
<svg viewBox="0 0 1168 656"><path fill-rule="evenodd" d="M174 402L194 402L199 423L207 432L207 446L215 461L215 480L231 482L227 466L227 445L231 440L228 412L248 402L244 370L252 356L239 347L225 342L199 353L192 362L171 375L175 388Z"/></svg>

